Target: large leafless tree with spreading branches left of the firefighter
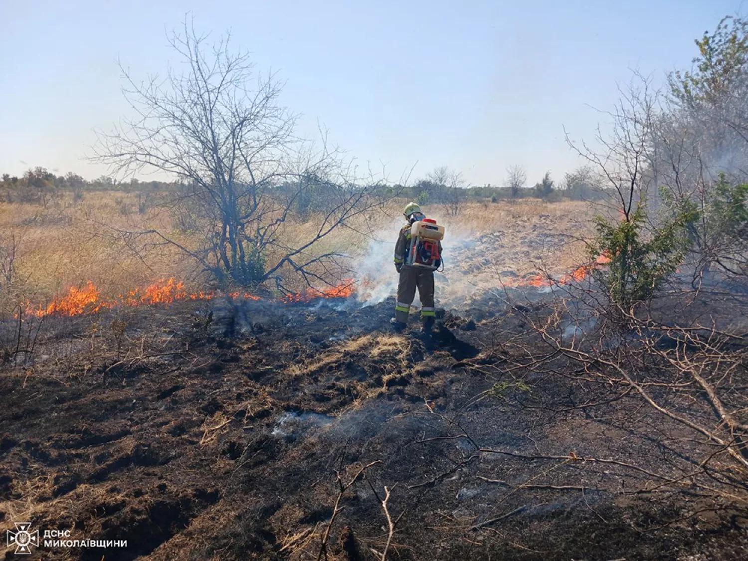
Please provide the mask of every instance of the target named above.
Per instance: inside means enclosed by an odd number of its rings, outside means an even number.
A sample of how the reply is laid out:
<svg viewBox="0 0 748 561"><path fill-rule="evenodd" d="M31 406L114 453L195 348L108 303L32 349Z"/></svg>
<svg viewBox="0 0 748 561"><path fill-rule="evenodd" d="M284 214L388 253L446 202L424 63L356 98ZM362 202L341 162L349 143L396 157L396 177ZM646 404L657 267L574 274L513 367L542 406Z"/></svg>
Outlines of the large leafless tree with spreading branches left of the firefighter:
<svg viewBox="0 0 748 561"><path fill-rule="evenodd" d="M203 235L190 245L161 230L122 234L176 245L218 281L275 279L282 288L286 272L328 283L340 255L317 251L318 242L373 209L381 183L358 177L325 135L321 147L299 138L295 114L279 104L281 84L255 78L249 55L230 50L228 36L210 46L186 21L169 40L185 70L138 82L120 65L135 117L99 135L94 159L116 174L147 168L173 177L180 187L166 206L190 212ZM325 201L313 232L300 238L289 218L314 189Z"/></svg>

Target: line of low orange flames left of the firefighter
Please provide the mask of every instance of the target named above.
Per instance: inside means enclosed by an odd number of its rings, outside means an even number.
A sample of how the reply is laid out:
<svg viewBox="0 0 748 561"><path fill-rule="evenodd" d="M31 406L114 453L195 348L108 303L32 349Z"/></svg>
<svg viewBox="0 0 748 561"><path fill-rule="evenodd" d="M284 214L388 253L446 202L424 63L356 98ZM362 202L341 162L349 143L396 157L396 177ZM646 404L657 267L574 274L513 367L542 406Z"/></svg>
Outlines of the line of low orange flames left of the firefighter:
<svg viewBox="0 0 748 561"><path fill-rule="evenodd" d="M349 298L355 292L353 281L345 281L329 289L307 289L283 296L279 301L284 304L309 302L316 298ZM228 292L230 298L245 298L246 300L262 300L260 296L249 292ZM25 314L30 316L79 316L83 313L96 313L115 307L138 307L150 304L171 304L180 300L212 300L218 296L216 292L188 292L182 281L175 278L161 279L146 286L136 288L126 295L114 298L102 298L101 292L88 281L85 287L71 286L66 295L56 296L46 306L34 307L31 302L25 303Z"/></svg>

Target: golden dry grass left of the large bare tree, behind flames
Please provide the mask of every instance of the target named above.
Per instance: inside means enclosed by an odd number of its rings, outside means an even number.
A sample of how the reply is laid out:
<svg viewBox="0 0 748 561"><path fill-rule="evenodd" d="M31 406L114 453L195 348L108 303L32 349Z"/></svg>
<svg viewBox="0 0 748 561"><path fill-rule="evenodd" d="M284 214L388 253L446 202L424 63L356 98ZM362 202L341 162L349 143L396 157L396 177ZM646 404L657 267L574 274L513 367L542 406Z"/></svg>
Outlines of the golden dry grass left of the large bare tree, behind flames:
<svg viewBox="0 0 748 561"><path fill-rule="evenodd" d="M0 204L0 229L21 239L16 295L40 301L88 281L116 295L159 278L194 275L176 248L162 245L138 255L113 239L111 227L167 225L164 215L153 210L138 214L134 208L135 195L125 193L86 194L79 203L61 197L47 208Z"/></svg>

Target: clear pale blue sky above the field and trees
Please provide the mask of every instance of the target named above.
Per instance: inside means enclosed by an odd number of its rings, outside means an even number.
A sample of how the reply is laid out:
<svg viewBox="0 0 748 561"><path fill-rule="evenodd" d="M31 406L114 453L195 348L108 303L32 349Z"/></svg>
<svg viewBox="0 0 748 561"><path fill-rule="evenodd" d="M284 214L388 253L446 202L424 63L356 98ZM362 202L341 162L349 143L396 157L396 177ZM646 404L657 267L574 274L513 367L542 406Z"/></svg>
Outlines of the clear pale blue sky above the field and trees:
<svg viewBox="0 0 748 561"><path fill-rule="evenodd" d="M163 72L165 31L199 31L278 70L282 101L398 180L438 165L473 184L524 165L530 183L577 165L563 126L591 138L631 70L688 68L693 40L747 0L0 0L0 173L41 165L88 179L94 129L128 108L117 58Z"/></svg>

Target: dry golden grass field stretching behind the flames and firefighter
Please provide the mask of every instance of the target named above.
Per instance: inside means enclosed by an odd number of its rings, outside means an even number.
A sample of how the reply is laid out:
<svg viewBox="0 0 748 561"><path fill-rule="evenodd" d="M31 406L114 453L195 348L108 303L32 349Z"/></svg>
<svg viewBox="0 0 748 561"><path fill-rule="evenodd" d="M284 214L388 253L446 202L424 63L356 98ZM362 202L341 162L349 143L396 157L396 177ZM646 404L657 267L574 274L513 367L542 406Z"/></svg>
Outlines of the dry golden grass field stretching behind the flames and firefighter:
<svg viewBox="0 0 748 561"><path fill-rule="evenodd" d="M340 228L317 242L311 252L335 251L347 256L337 272L343 278L357 278L368 260L372 240L384 247L387 275L391 269L391 248L402 222L396 200L358 218L352 228ZM83 200L62 194L48 206L0 203L0 245L16 244L12 289L4 290L4 307L19 301L45 304L70 287L96 286L102 295L126 294L159 279L177 278L188 290L211 288L211 280L193 260L174 245L153 236L127 238L124 231L158 229L192 248L194 234L181 233L168 212L150 206L139 209L138 195L126 192L86 193ZM140 211L140 212L139 212ZM444 296L475 286L495 287L537 274L539 269L562 275L585 259L583 245L574 236L589 230L591 206L587 203L545 203L536 199L515 202L466 203L457 217L442 206L424 206L424 211L447 226L444 241L446 270L442 279ZM304 224L289 221L281 233L289 242L312 236L319 221L310 216ZM380 248L381 249L381 248ZM272 256L271 256L272 257ZM300 283L291 283L304 289Z"/></svg>

